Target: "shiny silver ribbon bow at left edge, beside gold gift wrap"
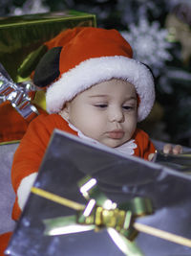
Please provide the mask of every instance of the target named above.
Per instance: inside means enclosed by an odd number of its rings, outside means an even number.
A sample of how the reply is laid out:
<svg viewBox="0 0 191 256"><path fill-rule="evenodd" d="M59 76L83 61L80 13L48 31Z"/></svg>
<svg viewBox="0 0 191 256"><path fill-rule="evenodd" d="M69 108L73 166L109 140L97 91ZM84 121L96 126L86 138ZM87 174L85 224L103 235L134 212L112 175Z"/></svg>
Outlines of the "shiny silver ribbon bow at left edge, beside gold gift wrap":
<svg viewBox="0 0 191 256"><path fill-rule="evenodd" d="M29 82L13 82L0 63L0 99L3 102L10 101L16 111L28 121L39 114L37 108L31 104L32 86Z"/></svg>

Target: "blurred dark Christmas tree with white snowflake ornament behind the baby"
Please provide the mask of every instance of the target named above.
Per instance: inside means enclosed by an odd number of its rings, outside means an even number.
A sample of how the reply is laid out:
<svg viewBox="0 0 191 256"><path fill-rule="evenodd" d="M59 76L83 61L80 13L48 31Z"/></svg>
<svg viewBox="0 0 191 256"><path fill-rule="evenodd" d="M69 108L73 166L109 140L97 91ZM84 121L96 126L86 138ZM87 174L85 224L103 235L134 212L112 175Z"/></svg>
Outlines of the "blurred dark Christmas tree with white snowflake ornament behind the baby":
<svg viewBox="0 0 191 256"><path fill-rule="evenodd" d="M140 124L159 140L191 146L191 0L1 0L1 16L73 9L116 28L156 78L157 104Z"/></svg>

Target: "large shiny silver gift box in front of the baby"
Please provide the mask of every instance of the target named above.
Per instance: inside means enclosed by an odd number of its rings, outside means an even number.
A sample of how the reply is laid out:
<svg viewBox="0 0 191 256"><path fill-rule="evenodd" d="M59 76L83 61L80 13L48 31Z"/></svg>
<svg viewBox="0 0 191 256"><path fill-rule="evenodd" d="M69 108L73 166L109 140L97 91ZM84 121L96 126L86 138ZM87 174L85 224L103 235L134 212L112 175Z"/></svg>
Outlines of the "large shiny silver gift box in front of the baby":
<svg viewBox="0 0 191 256"><path fill-rule="evenodd" d="M191 255L190 194L190 175L55 129L6 255Z"/></svg>

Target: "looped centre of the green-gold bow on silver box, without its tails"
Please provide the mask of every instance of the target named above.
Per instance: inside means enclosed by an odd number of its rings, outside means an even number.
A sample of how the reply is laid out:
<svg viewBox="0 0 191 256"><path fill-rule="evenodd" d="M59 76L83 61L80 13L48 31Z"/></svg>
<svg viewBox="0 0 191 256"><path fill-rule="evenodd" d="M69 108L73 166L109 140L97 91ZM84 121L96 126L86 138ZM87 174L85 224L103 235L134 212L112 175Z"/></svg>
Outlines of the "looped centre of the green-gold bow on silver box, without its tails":
<svg viewBox="0 0 191 256"><path fill-rule="evenodd" d="M112 227L128 240L133 241L138 231L132 223L137 217L153 213L150 199L134 198L117 206L96 186L96 178L89 176L79 182L80 192L88 200L83 211L79 211L77 221L83 224L95 224L101 227Z"/></svg>

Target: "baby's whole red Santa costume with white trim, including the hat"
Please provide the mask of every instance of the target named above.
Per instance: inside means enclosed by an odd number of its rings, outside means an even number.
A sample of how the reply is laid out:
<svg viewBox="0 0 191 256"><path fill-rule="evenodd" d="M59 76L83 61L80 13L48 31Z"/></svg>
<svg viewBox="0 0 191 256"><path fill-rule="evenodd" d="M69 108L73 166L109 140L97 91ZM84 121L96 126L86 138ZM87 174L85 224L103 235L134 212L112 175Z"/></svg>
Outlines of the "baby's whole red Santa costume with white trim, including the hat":
<svg viewBox="0 0 191 256"><path fill-rule="evenodd" d="M32 121L15 152L11 170L16 193L13 220L19 218L30 193L53 129L85 138L58 114L66 102L94 84L114 78L134 84L138 94L138 122L146 118L155 101L151 72L133 59L131 46L116 30L78 27L64 31L44 46L47 53L34 71L33 82L46 88L49 114L41 114ZM118 150L148 159L155 147L148 135L137 129L132 140Z"/></svg>

